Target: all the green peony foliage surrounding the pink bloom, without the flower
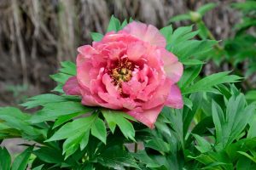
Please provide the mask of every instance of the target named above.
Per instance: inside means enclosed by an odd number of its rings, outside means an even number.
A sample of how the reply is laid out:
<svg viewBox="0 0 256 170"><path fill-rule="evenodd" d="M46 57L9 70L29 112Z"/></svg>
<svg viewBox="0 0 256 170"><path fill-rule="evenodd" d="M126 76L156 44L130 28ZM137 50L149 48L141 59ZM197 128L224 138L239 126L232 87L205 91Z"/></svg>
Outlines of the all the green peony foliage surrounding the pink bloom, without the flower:
<svg viewBox="0 0 256 170"><path fill-rule="evenodd" d="M203 15L214 6L210 3L198 13ZM186 19L185 16L172 20ZM112 17L107 31L119 31L127 23ZM185 102L183 109L165 107L155 128L148 129L122 111L81 105L79 96L63 93L63 84L76 75L76 65L65 61L59 73L50 76L58 82L55 94L41 94L21 104L26 110L37 109L33 115L14 107L0 108L2 140L34 141L26 144L27 149L13 163L8 150L2 148L0 157L5 159L0 160L0 167L255 169L255 91L242 94L232 84L241 81L241 77L230 75L230 71L200 75L208 54L218 47L218 42L208 40L209 35L204 37L201 30L193 31L193 26L173 30L166 26L160 32L166 37L166 49L184 65L178 82ZM100 41L102 34L92 33L91 37ZM137 144L145 150L138 150Z"/></svg>

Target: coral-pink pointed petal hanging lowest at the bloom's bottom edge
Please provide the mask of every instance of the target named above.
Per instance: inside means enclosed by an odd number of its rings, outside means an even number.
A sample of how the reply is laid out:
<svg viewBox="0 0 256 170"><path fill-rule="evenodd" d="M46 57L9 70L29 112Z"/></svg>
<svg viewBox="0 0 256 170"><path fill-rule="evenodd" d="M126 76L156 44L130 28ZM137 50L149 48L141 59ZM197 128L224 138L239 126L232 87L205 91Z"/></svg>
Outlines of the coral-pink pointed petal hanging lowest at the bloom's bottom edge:
<svg viewBox="0 0 256 170"><path fill-rule="evenodd" d="M136 110L128 111L128 114L136 118L139 122L142 122L144 125L154 128L154 122L156 121L157 116L160 114L163 107L164 105L160 105L143 112L137 112Z"/></svg>

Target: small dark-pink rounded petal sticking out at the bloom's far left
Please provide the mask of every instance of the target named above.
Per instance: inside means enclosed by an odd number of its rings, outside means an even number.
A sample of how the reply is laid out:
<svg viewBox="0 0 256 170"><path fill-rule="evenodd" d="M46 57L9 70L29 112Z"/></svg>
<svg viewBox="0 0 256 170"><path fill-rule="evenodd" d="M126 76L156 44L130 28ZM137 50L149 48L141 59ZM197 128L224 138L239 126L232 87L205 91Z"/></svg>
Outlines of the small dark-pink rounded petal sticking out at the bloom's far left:
<svg viewBox="0 0 256 170"><path fill-rule="evenodd" d="M77 77L70 77L63 87L67 95L81 95Z"/></svg>

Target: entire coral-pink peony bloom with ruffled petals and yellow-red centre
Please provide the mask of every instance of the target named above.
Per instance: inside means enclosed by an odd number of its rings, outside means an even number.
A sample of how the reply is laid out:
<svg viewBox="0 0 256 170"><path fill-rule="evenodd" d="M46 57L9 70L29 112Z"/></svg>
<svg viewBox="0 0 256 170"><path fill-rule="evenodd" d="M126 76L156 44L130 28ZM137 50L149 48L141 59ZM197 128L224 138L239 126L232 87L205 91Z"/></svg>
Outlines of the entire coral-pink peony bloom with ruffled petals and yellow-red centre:
<svg viewBox="0 0 256 170"><path fill-rule="evenodd" d="M183 107L175 84L183 65L154 26L133 21L78 51L77 77L63 89L81 95L83 105L125 111L151 128L164 105Z"/></svg>

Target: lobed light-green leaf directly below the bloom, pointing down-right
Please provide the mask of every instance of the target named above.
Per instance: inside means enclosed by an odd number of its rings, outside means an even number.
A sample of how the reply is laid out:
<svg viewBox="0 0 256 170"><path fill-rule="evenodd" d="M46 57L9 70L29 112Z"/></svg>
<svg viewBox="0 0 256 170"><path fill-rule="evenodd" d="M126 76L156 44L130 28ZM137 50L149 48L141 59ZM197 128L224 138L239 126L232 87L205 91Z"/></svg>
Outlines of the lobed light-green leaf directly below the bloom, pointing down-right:
<svg viewBox="0 0 256 170"><path fill-rule="evenodd" d="M112 133L114 132L116 125L118 125L126 139L132 139L135 141L135 130L131 122L127 120L130 119L134 121L133 117L125 114L122 111L102 110L102 114L108 122L108 127Z"/></svg>

